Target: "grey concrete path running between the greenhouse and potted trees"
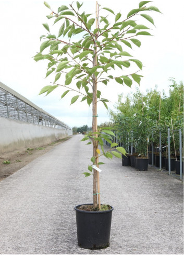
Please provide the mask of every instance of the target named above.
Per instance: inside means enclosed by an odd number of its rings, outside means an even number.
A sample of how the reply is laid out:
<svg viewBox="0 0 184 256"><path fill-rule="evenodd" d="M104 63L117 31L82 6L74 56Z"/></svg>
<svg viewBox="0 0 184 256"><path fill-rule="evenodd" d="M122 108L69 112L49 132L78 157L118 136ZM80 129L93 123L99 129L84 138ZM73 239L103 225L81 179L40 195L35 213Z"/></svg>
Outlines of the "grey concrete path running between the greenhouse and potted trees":
<svg viewBox="0 0 184 256"><path fill-rule="evenodd" d="M101 159L101 201L114 206L110 247L77 245L75 210L92 202L84 178L92 147L82 135L59 144L0 182L1 254L183 254L183 183Z"/></svg>

